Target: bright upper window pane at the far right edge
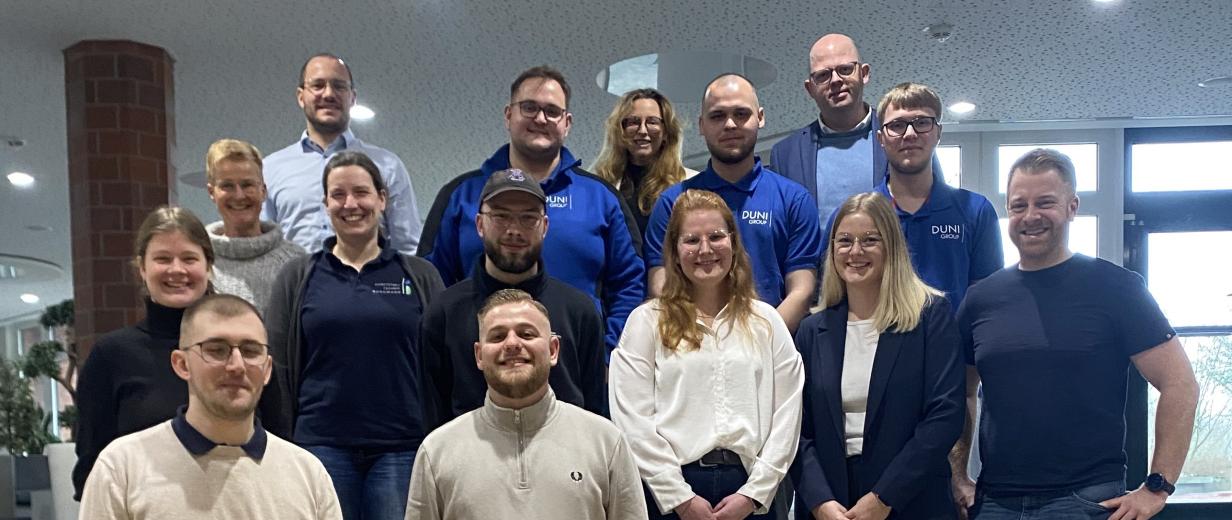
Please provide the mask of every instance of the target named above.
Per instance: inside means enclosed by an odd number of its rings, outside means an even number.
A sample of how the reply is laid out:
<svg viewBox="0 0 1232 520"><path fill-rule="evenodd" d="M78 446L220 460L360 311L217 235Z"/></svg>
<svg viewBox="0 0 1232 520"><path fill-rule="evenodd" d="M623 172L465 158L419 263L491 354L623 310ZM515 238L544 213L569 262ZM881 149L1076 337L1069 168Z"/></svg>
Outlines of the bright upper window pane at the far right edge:
<svg viewBox="0 0 1232 520"><path fill-rule="evenodd" d="M1133 191L1232 190L1228 155L1232 140L1135 144Z"/></svg>

